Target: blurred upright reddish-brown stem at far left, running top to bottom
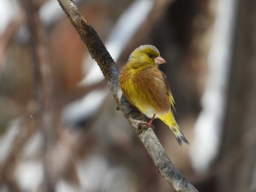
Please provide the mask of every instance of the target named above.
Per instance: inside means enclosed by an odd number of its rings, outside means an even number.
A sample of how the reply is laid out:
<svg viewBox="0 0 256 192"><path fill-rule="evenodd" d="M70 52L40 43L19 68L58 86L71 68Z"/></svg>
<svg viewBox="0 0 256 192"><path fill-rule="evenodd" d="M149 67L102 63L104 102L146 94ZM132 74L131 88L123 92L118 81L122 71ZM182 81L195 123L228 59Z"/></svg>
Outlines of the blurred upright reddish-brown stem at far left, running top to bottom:
<svg viewBox="0 0 256 192"><path fill-rule="evenodd" d="M23 0L26 19L31 32L31 49L33 53L34 78L39 104L39 128L44 139L44 191L54 191L56 178L51 168L50 149L56 142L56 129L53 101L53 76L50 75L50 61L45 45L45 33L39 18L42 1Z"/></svg>

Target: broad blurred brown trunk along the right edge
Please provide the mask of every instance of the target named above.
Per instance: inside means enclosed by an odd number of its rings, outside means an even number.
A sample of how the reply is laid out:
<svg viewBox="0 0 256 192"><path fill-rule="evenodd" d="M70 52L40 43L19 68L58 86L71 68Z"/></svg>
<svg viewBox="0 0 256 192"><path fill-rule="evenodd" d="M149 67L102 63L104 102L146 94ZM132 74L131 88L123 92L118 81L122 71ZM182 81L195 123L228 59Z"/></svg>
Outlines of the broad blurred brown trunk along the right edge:
<svg viewBox="0 0 256 192"><path fill-rule="evenodd" d="M217 176L219 191L238 192L256 190L256 2L237 8Z"/></svg>

